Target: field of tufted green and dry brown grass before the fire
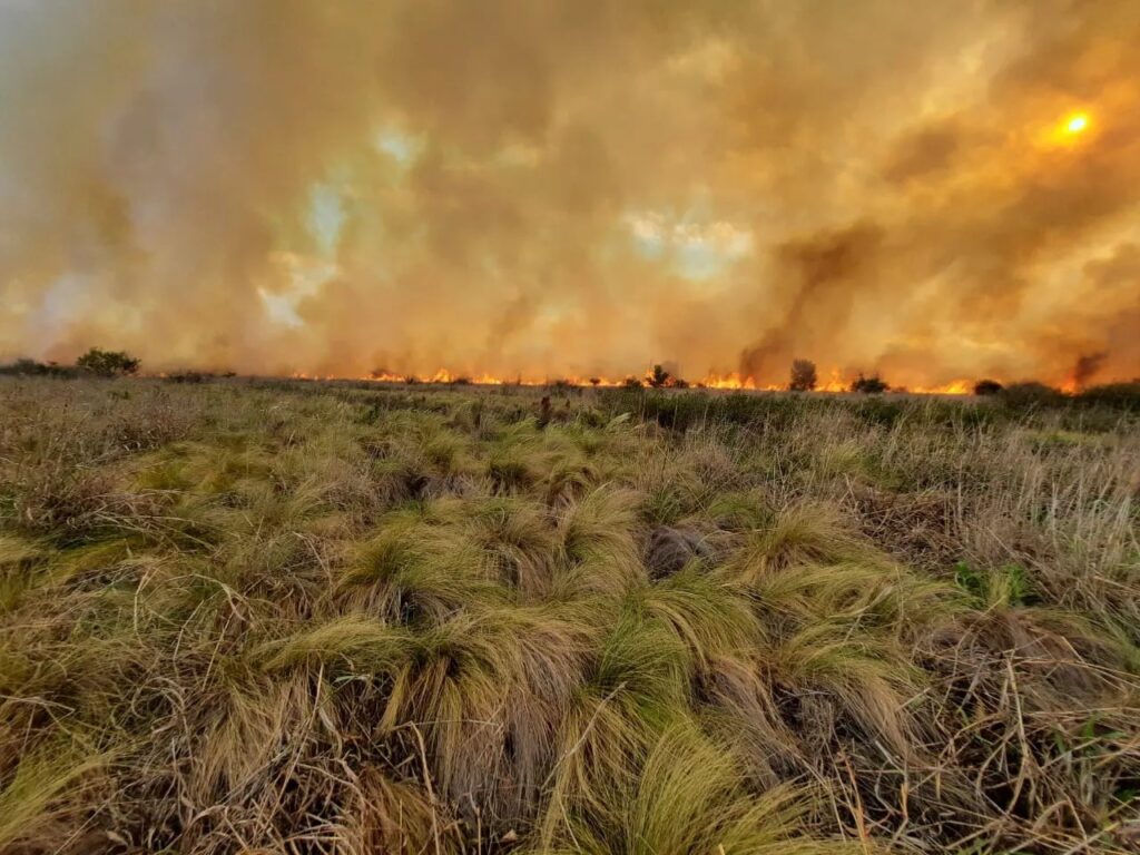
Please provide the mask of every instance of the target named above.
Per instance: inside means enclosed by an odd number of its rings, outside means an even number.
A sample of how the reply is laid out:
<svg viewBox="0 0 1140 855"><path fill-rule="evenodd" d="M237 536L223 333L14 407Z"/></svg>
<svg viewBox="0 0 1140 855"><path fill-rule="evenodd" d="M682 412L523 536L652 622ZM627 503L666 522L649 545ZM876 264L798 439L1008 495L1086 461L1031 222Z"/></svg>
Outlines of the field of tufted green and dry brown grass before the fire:
<svg viewBox="0 0 1140 855"><path fill-rule="evenodd" d="M0 380L0 852L1137 852L1140 422Z"/></svg>

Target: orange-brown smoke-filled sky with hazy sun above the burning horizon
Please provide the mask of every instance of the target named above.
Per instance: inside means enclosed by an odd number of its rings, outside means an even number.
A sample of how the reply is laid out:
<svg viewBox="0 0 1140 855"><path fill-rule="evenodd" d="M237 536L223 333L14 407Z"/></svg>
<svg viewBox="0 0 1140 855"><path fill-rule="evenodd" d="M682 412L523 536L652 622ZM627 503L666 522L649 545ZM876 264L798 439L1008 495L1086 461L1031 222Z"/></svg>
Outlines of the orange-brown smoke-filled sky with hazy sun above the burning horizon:
<svg viewBox="0 0 1140 855"><path fill-rule="evenodd" d="M0 357L1140 375L1140 3L2 0Z"/></svg>

